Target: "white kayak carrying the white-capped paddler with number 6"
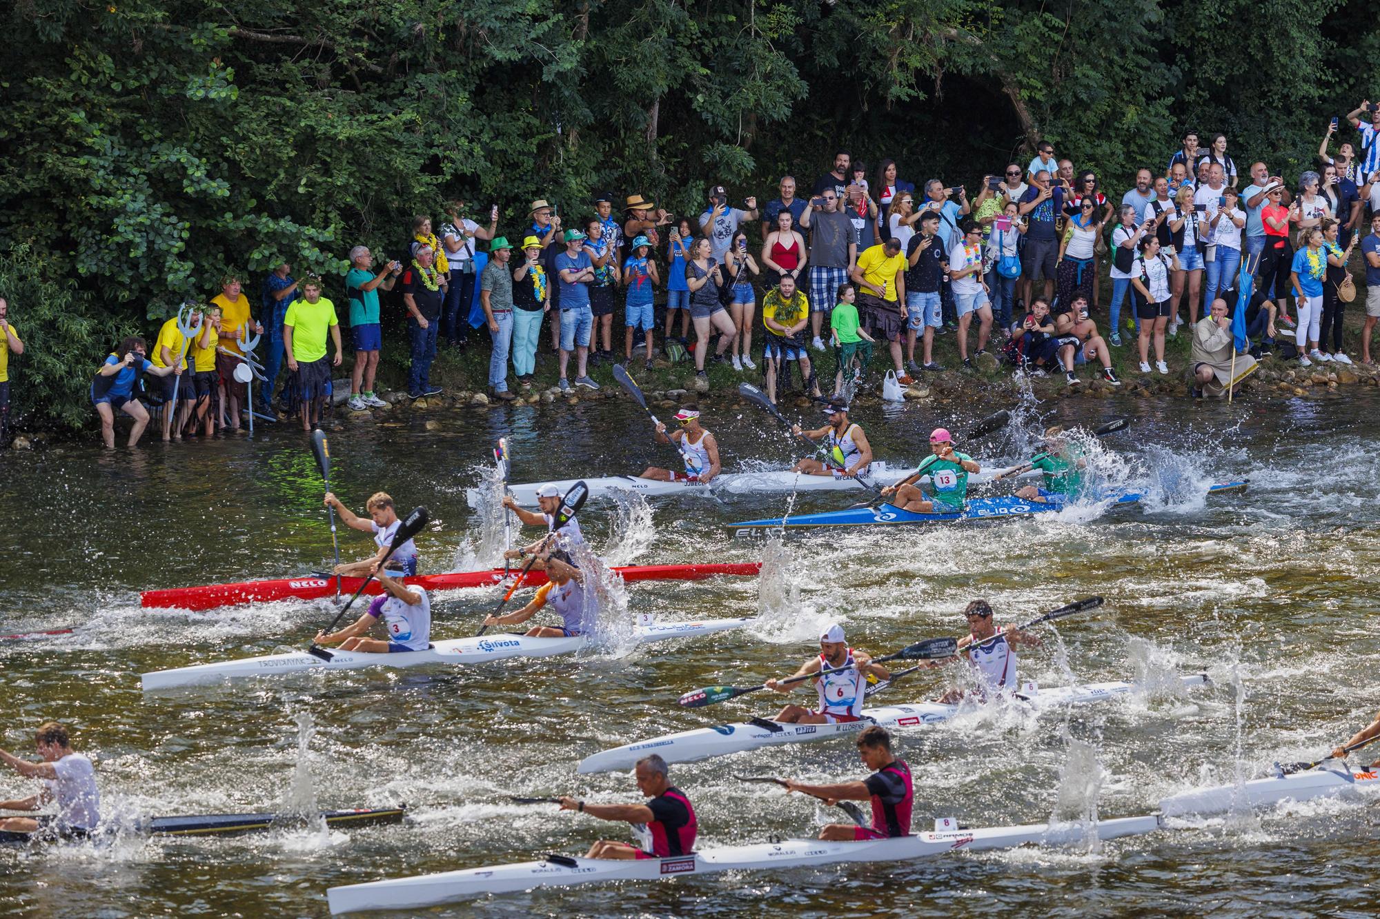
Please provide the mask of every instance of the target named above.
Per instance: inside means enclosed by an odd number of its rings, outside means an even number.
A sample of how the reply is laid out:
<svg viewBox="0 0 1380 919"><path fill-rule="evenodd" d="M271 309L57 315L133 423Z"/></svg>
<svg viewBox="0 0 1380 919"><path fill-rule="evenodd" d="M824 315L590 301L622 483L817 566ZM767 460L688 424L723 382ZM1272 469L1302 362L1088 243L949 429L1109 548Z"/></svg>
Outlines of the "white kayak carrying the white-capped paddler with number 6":
<svg viewBox="0 0 1380 919"><path fill-rule="evenodd" d="M1206 673L1181 676L1183 684L1202 686L1208 683ZM1029 706L1043 712L1061 705L1082 705L1101 702L1134 690L1133 683L1082 683L1078 686L1057 686L1047 690L1027 683L1012 700L1016 705ZM912 705L886 705L862 711L861 720L843 724L793 724L753 718L751 722L715 724L689 731L664 734L651 740L624 744L580 760L580 773L611 773L632 769L649 753L657 753L668 763L694 763L713 756L727 756L748 749L780 747L784 744L806 744L854 734L868 724L882 727L922 727L952 719L962 711L973 711L972 705L947 705L944 702L916 702Z"/></svg>

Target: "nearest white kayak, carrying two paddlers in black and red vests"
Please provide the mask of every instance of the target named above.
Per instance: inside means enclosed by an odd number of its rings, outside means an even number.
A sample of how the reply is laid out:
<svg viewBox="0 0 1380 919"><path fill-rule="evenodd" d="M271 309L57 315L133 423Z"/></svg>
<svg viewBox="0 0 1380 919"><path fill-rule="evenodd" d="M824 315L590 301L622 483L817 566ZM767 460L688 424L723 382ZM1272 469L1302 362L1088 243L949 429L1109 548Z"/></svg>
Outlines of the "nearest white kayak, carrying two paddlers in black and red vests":
<svg viewBox="0 0 1380 919"><path fill-rule="evenodd" d="M941 829L941 827L945 827ZM724 846L671 858L573 858L546 856L541 861L447 871L435 875L374 880L326 891L331 913L366 909L422 909L484 894L519 893L537 887L574 887L610 880L661 880L720 871L777 871L840 862L907 861L955 851L1013 849L1027 844L1083 843L1090 836L1119 839L1152 833L1159 817L1121 817L1085 824L1028 824L963 829L954 820L936 821L934 832L865 842L784 839Z"/></svg>

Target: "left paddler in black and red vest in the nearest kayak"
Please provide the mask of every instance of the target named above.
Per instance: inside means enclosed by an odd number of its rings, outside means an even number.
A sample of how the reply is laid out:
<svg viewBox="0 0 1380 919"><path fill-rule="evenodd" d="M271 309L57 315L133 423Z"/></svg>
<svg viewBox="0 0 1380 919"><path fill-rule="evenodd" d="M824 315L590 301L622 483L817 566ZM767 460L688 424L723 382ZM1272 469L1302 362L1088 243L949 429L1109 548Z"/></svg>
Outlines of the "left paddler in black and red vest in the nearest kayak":
<svg viewBox="0 0 1380 919"><path fill-rule="evenodd" d="M636 846L600 839L585 858L675 858L694 853L694 807L684 792L671 784L667 760L656 753L643 756L633 771L638 791L651 799L646 804L586 804L574 798L560 799L562 810L632 824Z"/></svg>

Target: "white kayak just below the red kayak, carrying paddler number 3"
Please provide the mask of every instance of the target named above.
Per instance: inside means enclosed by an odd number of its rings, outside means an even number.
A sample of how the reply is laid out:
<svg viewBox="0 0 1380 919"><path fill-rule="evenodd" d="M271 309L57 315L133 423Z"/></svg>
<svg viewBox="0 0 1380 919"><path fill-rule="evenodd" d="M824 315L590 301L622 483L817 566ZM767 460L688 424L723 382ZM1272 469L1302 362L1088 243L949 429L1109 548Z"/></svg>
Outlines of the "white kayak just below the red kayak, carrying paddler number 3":
<svg viewBox="0 0 1380 919"><path fill-rule="evenodd" d="M639 625L638 642L664 642L675 638L711 635L729 629L741 629L753 618L704 620L700 622L653 622ZM170 671L155 671L142 676L144 690L160 690L174 686L195 686L228 679L250 676L279 676L305 671L353 671L363 666L421 666L424 664L487 664L509 657L551 657L552 654L574 654L589 639L574 638L527 638L526 635L494 633L448 642L436 642L425 651L399 651L389 654L366 654L363 651L331 651L331 660L323 661L315 654L298 651L294 654L264 654L244 657L236 661L217 664L196 664ZM327 649L330 650L330 649Z"/></svg>

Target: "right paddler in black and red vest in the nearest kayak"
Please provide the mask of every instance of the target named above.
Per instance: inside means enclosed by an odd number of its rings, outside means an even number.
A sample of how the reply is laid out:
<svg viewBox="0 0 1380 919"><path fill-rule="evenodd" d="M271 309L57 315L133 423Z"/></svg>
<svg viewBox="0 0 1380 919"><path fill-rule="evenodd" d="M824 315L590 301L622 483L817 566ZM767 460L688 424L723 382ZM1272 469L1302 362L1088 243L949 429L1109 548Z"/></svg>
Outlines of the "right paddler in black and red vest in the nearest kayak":
<svg viewBox="0 0 1380 919"><path fill-rule="evenodd" d="M834 806L840 800L871 800L872 827L853 824L828 824L820 831L820 839L832 842L862 842L865 839L894 839L911 835L911 807L915 793L911 785L911 767L905 760L891 753L891 735L879 724L864 727L858 734L858 758L872 774L857 782L834 785L810 785L793 778L785 780L788 792L818 798Z"/></svg>

